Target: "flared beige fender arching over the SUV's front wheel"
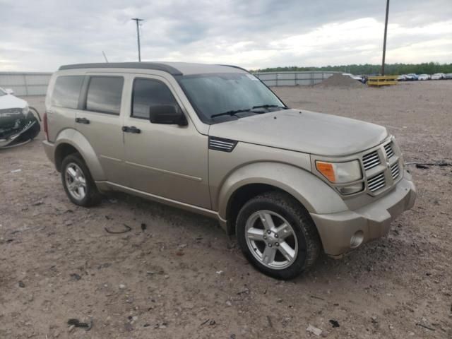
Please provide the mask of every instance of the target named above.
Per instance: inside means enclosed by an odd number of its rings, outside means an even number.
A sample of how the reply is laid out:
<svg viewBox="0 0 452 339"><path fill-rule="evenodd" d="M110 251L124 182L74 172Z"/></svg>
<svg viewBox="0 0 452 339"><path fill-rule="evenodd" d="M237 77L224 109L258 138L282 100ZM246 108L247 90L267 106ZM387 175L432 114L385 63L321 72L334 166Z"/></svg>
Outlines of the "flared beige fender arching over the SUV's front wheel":
<svg viewBox="0 0 452 339"><path fill-rule="evenodd" d="M248 184L268 184L294 196L309 213L347 210L338 193L305 169L280 162L254 162L236 169L223 182L218 195L218 214L227 220L227 206L237 189Z"/></svg>

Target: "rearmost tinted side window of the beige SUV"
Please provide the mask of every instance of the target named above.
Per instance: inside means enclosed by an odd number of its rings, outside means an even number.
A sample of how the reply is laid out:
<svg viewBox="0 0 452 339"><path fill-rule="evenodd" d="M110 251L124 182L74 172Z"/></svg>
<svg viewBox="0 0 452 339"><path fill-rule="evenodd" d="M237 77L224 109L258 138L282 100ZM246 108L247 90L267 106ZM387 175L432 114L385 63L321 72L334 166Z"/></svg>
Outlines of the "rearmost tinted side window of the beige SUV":
<svg viewBox="0 0 452 339"><path fill-rule="evenodd" d="M52 106L77 108L85 76L59 76L52 94Z"/></svg>

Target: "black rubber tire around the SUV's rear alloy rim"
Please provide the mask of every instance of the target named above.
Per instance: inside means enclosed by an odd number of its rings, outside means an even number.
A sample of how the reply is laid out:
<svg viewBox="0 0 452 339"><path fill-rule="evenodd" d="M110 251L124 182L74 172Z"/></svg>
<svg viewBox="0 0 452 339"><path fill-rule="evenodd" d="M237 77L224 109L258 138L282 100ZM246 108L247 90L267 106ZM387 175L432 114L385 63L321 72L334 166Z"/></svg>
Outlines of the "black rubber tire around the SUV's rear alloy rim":
<svg viewBox="0 0 452 339"><path fill-rule="evenodd" d="M69 193L69 188L66 184L66 169L69 165L76 164L80 167L83 172L83 176L85 177L85 196L81 199L77 199L71 193ZM86 166L85 161L78 153L73 153L64 158L61 164L61 182L63 183L64 191L66 191L66 195L72 203L75 203L78 206L90 207L96 206L102 201L102 196L97 190L97 186L91 177L90 170L88 166Z"/></svg>

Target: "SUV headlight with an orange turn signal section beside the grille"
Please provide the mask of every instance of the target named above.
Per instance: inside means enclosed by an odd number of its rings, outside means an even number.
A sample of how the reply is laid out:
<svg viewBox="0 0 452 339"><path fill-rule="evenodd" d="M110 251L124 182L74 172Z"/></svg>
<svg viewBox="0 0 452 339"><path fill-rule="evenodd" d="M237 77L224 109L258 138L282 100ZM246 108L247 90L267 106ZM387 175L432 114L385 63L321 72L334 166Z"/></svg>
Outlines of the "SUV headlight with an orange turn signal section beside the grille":
<svg viewBox="0 0 452 339"><path fill-rule="evenodd" d="M343 184L345 182L355 182L362 178L359 161L350 162L324 162L316 161L316 168L323 177L333 184Z"/></svg>

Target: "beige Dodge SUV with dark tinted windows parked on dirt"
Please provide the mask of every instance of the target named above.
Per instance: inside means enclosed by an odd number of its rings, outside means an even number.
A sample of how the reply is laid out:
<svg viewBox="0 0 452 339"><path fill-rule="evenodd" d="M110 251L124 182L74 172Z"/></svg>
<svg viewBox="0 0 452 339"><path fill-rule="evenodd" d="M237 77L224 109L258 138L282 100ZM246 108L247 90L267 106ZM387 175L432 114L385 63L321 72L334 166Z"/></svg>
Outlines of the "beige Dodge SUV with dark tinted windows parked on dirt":
<svg viewBox="0 0 452 339"><path fill-rule="evenodd" d="M73 203L124 191L216 218L275 278L383 237L415 203L384 127L287 107L236 66L61 66L45 105L44 149Z"/></svg>

